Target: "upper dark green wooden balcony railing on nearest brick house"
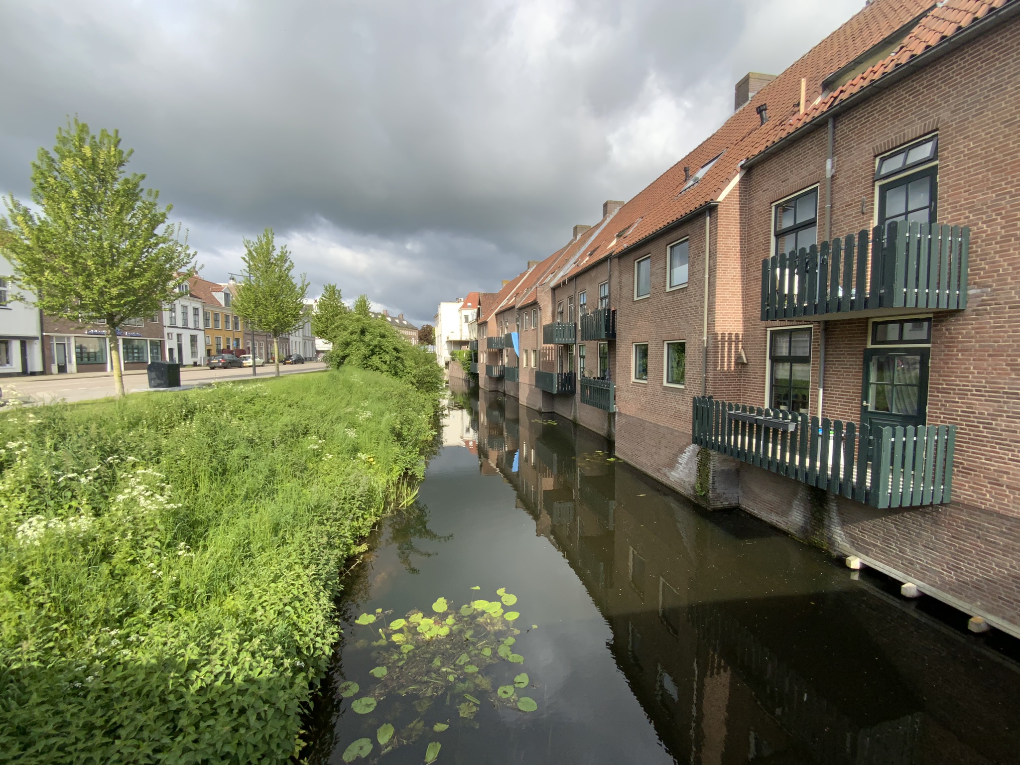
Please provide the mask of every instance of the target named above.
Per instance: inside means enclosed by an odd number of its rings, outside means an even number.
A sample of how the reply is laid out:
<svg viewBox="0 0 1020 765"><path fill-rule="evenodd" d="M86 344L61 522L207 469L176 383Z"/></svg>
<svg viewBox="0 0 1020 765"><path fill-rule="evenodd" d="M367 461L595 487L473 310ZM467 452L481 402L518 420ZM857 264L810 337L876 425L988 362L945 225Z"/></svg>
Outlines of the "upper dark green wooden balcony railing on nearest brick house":
<svg viewBox="0 0 1020 765"><path fill-rule="evenodd" d="M963 310L969 245L966 226L894 222L870 240L862 231L773 255L762 261L761 320Z"/></svg>

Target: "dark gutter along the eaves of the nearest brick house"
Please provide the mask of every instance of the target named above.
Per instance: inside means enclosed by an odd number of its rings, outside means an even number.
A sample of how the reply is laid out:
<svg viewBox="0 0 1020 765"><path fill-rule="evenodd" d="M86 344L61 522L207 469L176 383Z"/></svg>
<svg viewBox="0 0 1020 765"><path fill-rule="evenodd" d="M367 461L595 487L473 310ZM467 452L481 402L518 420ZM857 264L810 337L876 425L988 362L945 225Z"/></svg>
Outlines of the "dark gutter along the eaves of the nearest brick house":
<svg viewBox="0 0 1020 765"><path fill-rule="evenodd" d="M1020 13L1020 1L1013 0L1004 5L998 10L993 10L988 13L983 18L979 18L976 21L971 21L970 24L964 27L962 30L954 34L952 37L937 43L936 45L928 48L923 53L919 53L910 59L907 63L898 66L892 69L892 71L883 74L881 78L865 86L857 93L848 96L846 99L829 107L825 111L818 114L817 117L812 118L810 121L798 128L790 134L783 136L781 139L776 141L767 149L763 149L758 154L753 157L748 157L744 160L744 167L753 167L756 164L764 161L766 158L772 156L776 152L785 148L787 145L794 143L795 141L800 141L805 136L813 133L816 130L821 129L825 125L825 121L818 119L823 115L825 116L837 116L843 112L852 109L857 106L858 103L866 101L872 96L878 95L881 91L891 88L894 85L898 84L904 78L913 74L917 69L923 68L930 63L934 63L939 58L949 55L954 52L957 48L966 45L971 40L990 32L992 29L998 27L1000 23L1005 23L1014 16Z"/></svg>

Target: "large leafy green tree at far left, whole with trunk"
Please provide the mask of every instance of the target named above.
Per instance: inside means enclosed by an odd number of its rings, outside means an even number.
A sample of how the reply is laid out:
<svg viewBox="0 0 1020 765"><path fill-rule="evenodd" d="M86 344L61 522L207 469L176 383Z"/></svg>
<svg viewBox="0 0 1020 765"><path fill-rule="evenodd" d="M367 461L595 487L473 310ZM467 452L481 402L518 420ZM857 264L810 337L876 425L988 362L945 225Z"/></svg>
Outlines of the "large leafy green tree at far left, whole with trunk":
<svg viewBox="0 0 1020 765"><path fill-rule="evenodd" d="M4 199L4 249L15 285L36 293L50 316L105 322L113 386L124 394L117 329L173 300L188 278L194 253L167 223L172 206L143 189L145 175L125 172L132 150L117 131L94 136L75 118L57 130L50 153L32 163L32 201L38 212Z"/></svg>

